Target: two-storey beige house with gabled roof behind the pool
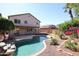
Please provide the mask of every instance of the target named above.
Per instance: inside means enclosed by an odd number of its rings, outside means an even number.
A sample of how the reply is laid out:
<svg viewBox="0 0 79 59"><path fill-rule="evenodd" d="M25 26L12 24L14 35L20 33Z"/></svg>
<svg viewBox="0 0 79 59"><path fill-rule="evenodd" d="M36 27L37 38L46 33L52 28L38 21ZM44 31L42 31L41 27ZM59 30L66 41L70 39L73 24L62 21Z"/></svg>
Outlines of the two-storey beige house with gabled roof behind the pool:
<svg viewBox="0 0 79 59"><path fill-rule="evenodd" d="M40 21L30 13L10 15L8 19L15 25L13 33L26 34L39 32Z"/></svg>

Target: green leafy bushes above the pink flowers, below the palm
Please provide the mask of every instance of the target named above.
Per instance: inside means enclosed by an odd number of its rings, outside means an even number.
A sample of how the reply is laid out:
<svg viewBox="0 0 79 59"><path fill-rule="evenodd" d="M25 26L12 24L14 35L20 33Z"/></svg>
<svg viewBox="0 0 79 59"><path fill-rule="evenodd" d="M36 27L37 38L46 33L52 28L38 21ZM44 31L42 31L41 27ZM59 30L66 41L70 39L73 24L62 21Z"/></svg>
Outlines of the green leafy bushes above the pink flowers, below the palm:
<svg viewBox="0 0 79 59"><path fill-rule="evenodd" d="M59 29L62 31L67 30L69 26L79 27L79 19L74 18L74 20L66 21L64 23L59 24L58 26L59 26Z"/></svg>

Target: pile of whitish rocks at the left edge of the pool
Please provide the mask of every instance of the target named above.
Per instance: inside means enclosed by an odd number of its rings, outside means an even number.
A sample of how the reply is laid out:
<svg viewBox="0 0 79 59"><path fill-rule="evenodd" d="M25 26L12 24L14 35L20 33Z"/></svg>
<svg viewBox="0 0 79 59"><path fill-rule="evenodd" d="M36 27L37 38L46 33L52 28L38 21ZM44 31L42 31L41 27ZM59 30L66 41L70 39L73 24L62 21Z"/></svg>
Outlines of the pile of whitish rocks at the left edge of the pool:
<svg viewBox="0 0 79 59"><path fill-rule="evenodd" d="M13 55L15 50L14 42L0 42L0 55Z"/></svg>

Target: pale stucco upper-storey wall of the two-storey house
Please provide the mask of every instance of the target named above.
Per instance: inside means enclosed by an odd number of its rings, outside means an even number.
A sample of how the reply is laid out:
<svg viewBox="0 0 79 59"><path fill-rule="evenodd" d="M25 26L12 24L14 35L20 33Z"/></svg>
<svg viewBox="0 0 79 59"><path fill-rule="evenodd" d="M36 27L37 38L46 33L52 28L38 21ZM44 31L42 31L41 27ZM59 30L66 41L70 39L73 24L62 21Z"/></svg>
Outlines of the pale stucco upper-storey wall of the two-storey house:
<svg viewBox="0 0 79 59"><path fill-rule="evenodd" d="M40 21L37 20L30 13L26 13L26 14L23 14L23 15L9 16L9 20L14 22L14 19L20 19L21 20L20 24L15 24L15 25L19 25L19 26L20 25L21 26L35 26L35 27L39 27L40 26ZM27 20L27 24L24 23L25 20Z"/></svg>

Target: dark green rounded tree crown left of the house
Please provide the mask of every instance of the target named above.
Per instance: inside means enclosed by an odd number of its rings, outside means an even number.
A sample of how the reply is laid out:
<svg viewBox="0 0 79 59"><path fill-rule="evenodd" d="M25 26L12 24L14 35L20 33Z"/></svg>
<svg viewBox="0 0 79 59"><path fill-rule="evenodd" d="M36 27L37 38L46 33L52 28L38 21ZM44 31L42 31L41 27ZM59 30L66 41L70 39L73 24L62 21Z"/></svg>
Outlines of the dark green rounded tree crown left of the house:
<svg viewBox="0 0 79 59"><path fill-rule="evenodd" d="M5 34L7 31L13 30L15 28L12 21L0 17L0 32Z"/></svg>

